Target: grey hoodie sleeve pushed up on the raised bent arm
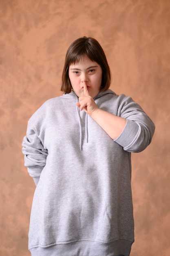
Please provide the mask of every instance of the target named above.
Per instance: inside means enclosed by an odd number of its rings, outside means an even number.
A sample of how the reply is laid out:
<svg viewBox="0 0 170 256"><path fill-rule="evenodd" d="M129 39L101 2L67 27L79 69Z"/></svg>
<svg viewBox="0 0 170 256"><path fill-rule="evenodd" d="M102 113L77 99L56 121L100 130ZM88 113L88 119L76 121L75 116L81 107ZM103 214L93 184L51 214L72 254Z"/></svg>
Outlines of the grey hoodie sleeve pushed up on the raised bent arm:
<svg viewBox="0 0 170 256"><path fill-rule="evenodd" d="M120 95L117 115L125 118L126 126L115 139L128 152L141 152L151 142L155 125L131 97Z"/></svg>

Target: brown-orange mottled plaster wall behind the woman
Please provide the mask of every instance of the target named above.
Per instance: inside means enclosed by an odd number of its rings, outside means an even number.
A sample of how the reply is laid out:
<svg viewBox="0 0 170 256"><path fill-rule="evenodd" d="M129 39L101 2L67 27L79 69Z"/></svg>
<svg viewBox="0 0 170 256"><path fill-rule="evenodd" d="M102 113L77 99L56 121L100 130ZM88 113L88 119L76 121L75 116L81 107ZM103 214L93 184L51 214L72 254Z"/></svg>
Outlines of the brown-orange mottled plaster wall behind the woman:
<svg viewBox="0 0 170 256"><path fill-rule="evenodd" d="M104 48L111 89L132 96L156 125L152 144L132 154L131 256L169 256L169 0L0 0L0 256L30 255L35 185L22 138L33 112L61 95L66 49L84 35Z"/></svg>

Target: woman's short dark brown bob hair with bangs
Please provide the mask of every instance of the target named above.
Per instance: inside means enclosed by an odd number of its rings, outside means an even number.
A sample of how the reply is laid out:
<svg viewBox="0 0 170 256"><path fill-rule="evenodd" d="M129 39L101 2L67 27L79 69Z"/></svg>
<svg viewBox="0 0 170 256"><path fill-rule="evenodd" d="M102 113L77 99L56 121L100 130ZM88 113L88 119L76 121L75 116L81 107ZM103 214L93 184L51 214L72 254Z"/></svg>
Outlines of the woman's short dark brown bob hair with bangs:
<svg viewBox="0 0 170 256"><path fill-rule="evenodd" d="M106 91L111 83L110 68L106 59L106 55L101 45L92 37L81 37L75 40L66 52L64 68L62 72L61 91L70 93L72 90L71 82L68 76L69 66L79 63L82 58L88 57L91 61L97 62L102 68L102 84L101 91Z"/></svg>

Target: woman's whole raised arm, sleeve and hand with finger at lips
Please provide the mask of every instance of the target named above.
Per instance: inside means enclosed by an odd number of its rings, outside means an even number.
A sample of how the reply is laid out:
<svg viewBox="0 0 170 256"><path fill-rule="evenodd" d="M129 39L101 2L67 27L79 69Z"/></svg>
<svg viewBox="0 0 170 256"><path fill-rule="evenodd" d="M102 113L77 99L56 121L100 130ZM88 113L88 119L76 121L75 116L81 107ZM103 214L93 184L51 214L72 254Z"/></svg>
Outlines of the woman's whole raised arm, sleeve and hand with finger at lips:
<svg viewBox="0 0 170 256"><path fill-rule="evenodd" d="M113 115L100 109L89 95L86 86L84 89L84 97L79 98L77 106L86 111L124 150L140 152L150 144L155 125L146 113L138 108L137 103L129 100L121 107L122 117Z"/></svg>

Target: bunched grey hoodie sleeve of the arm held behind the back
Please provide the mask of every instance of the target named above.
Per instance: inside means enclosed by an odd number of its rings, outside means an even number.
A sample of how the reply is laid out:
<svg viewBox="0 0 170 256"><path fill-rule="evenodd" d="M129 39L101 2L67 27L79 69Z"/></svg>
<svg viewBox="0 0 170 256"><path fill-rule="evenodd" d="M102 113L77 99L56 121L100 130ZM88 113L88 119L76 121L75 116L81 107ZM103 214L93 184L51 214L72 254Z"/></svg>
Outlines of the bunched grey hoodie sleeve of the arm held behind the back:
<svg viewBox="0 0 170 256"><path fill-rule="evenodd" d="M42 169L46 165L48 150L43 147L36 129L28 122L26 136L22 142L22 153L24 154L24 166L27 167L29 175L38 184Z"/></svg>

